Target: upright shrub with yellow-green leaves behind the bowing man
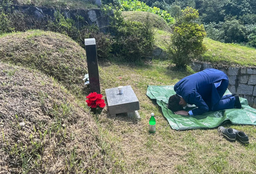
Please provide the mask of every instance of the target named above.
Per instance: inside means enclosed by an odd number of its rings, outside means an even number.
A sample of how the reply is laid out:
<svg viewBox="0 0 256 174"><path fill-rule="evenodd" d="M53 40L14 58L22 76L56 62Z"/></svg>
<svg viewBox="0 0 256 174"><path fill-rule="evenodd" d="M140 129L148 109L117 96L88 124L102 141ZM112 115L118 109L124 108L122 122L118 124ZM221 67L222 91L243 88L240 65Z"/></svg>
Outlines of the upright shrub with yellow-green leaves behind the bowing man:
<svg viewBox="0 0 256 174"><path fill-rule="evenodd" d="M176 20L169 43L168 52L177 68L185 68L193 58L202 55L206 48L203 38L206 36L203 25L195 23L198 10L187 7Z"/></svg>

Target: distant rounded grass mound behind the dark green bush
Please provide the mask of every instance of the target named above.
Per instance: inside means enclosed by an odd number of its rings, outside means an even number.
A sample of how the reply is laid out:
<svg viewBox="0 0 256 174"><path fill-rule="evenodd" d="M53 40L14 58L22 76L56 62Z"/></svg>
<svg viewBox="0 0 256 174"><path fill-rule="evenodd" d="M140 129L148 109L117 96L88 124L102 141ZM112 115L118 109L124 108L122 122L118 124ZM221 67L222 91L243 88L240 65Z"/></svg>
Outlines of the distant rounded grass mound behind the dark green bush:
<svg viewBox="0 0 256 174"><path fill-rule="evenodd" d="M146 11L123 11L122 15L125 20L132 20L132 21L138 21L141 23L145 23L147 20L147 15L149 14L149 22L152 24L155 28L164 30L164 31L170 31L170 27L166 23L166 21L161 18L159 15L149 13Z"/></svg>

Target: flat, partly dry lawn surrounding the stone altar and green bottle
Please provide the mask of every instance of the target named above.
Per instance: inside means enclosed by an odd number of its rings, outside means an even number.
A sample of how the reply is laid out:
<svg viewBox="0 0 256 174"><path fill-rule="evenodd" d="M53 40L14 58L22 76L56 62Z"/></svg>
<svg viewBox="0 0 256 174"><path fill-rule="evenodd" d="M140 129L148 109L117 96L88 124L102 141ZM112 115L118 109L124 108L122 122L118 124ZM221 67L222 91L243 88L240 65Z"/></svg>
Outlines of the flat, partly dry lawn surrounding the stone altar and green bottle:
<svg viewBox="0 0 256 174"><path fill-rule="evenodd" d="M139 99L141 120L111 117L104 110L97 125L114 155L113 173L254 173L256 127L224 125L245 131L250 144L230 143L217 128L172 130L160 107L146 96L147 85L174 85L193 72L171 70L169 61L145 60L140 65L99 61L101 91L131 85ZM149 134L150 113L156 133Z"/></svg>

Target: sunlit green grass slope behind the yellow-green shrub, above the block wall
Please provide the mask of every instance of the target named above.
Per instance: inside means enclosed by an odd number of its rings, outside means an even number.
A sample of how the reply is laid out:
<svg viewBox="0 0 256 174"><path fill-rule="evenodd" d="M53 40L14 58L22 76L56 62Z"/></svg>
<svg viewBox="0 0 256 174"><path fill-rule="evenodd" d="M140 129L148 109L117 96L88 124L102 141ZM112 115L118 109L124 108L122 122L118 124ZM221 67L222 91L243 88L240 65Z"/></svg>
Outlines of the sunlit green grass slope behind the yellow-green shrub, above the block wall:
<svg viewBox="0 0 256 174"><path fill-rule="evenodd" d="M166 44L170 41L170 35L170 32L158 30L155 34L155 45L163 49L163 51L167 51ZM222 43L209 38L204 38L203 43L207 51L199 61L228 66L256 66L255 48Z"/></svg>

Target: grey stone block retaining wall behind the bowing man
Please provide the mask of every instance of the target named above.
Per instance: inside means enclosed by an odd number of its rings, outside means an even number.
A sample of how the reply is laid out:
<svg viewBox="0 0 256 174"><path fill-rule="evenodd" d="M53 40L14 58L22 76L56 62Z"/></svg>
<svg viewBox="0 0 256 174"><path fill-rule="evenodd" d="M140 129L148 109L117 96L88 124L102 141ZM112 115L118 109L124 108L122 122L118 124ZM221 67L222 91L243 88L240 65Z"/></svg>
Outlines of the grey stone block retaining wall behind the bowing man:
<svg viewBox="0 0 256 174"><path fill-rule="evenodd" d="M191 67L197 72L207 68L223 71L229 77L229 91L246 98L250 104L256 104L256 67L224 67L197 61Z"/></svg>

